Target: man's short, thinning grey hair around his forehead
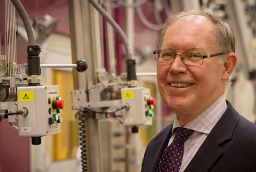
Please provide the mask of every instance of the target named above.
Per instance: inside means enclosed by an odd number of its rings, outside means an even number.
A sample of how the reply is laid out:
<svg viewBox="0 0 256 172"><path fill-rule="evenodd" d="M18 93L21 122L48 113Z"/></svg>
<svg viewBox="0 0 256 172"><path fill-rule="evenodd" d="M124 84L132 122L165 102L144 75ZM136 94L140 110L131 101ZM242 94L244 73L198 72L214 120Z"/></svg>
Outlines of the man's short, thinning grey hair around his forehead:
<svg viewBox="0 0 256 172"><path fill-rule="evenodd" d="M168 17L167 20L164 22L162 32L159 36L159 39L157 40L158 50L161 50L163 36L169 26L172 25L175 21L181 19L182 17L191 15L205 17L206 19L209 19L212 23L214 23L215 31L213 38L216 46L220 49L220 51L224 53L235 52L235 36L230 25L227 22L217 19L217 17L212 16L211 14L198 10L181 11L178 14Z"/></svg>

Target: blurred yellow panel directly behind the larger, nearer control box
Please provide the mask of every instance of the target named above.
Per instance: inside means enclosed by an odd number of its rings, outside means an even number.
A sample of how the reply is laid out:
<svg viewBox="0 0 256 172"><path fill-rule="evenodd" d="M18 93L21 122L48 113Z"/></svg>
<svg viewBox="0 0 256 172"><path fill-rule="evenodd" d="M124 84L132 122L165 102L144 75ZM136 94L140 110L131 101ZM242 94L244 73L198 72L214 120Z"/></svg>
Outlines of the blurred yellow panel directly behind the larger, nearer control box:
<svg viewBox="0 0 256 172"><path fill-rule="evenodd" d="M71 91L74 90L73 74L66 71L55 71L47 85L59 85L59 96L65 102L65 107L60 113L63 122L60 124L61 133L46 137L46 150L53 161L74 158L78 147L78 126L75 119L75 110L72 110Z"/></svg>

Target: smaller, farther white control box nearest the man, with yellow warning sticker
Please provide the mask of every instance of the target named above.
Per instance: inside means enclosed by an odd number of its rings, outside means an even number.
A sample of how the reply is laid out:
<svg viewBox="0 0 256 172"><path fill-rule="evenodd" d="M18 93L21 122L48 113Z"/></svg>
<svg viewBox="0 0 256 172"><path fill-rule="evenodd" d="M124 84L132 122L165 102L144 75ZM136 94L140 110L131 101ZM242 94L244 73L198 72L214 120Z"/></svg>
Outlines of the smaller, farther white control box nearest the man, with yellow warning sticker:
<svg viewBox="0 0 256 172"><path fill-rule="evenodd" d="M143 87L121 89L123 105L128 104L129 109L123 110L124 125L144 126L152 125L153 112L149 105L150 90Z"/></svg>

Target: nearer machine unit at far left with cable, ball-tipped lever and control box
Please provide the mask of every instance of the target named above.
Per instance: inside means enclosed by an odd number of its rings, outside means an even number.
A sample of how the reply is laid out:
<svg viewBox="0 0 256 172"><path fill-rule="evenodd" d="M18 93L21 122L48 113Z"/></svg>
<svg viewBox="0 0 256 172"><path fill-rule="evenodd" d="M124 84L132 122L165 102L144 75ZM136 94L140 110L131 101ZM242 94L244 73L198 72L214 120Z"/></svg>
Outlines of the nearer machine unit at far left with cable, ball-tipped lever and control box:
<svg viewBox="0 0 256 172"><path fill-rule="evenodd" d="M70 65L40 64L41 48L35 44L26 10L19 0L12 0L11 3L4 3L4 22L7 24L4 24L4 55L0 58L0 122L8 118L10 125L19 130L19 136L32 137L32 144L38 145L42 136L60 133L60 112L64 108L58 85L40 84L41 67L76 67L82 72L87 69L87 63L78 60ZM14 7L28 35L27 64L17 64ZM19 121L19 127L11 124L16 121Z"/></svg>

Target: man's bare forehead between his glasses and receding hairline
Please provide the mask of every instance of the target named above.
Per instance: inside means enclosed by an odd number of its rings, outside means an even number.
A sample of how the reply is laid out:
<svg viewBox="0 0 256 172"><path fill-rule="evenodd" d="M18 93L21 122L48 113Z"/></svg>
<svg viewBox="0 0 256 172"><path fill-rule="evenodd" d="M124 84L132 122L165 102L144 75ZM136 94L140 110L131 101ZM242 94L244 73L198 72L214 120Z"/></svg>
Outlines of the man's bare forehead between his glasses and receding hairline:
<svg viewBox="0 0 256 172"><path fill-rule="evenodd" d="M214 46L214 30L214 23L204 16L184 16L167 29L161 48L182 47L183 51L206 52L206 47Z"/></svg>

